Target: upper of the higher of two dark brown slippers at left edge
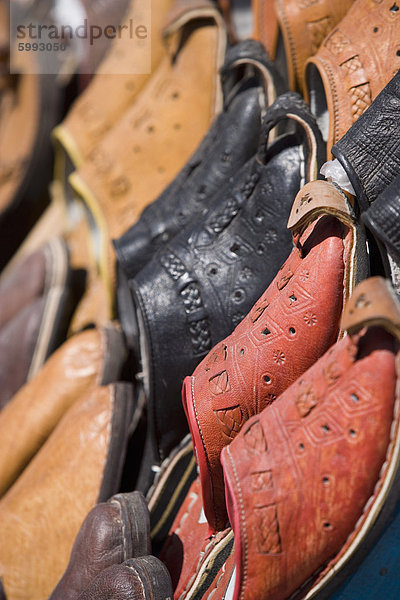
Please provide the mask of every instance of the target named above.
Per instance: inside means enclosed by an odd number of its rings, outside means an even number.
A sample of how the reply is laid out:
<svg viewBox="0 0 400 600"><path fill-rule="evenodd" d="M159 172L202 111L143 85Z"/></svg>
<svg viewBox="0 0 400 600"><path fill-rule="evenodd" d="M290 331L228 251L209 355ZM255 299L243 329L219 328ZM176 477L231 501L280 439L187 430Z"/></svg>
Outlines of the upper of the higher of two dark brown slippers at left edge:
<svg viewBox="0 0 400 600"><path fill-rule="evenodd" d="M32 300L46 283L46 257L42 249L29 255L0 278L0 328Z"/></svg>

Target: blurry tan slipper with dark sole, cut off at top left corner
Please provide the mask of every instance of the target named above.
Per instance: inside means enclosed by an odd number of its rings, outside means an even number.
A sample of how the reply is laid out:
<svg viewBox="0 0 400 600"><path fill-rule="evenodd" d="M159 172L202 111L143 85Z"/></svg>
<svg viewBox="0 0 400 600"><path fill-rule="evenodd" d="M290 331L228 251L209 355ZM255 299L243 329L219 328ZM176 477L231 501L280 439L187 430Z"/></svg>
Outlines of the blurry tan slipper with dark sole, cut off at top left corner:
<svg viewBox="0 0 400 600"><path fill-rule="evenodd" d="M41 76L40 52L17 52L9 73L9 3L0 4L0 271L46 208L52 177L50 134L62 109L56 77ZM43 54L43 53L42 53Z"/></svg>

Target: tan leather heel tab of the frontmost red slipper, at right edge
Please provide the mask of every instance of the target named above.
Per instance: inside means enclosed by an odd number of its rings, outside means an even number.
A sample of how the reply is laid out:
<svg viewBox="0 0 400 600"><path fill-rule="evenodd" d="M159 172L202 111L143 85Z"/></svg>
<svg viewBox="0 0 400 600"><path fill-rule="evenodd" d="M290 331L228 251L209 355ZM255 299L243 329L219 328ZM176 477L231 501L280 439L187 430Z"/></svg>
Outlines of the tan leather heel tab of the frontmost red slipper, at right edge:
<svg viewBox="0 0 400 600"><path fill-rule="evenodd" d="M389 281L371 277L362 281L346 304L342 329L350 334L364 327L384 327L400 340L400 308Z"/></svg>

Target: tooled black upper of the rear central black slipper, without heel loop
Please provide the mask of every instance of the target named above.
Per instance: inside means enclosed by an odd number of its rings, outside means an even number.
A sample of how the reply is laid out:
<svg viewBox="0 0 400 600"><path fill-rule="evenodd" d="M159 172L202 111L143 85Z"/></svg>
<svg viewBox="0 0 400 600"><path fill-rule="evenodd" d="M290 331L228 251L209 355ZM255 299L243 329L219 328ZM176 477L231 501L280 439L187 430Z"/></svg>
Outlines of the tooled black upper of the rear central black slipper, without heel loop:
<svg viewBox="0 0 400 600"><path fill-rule="evenodd" d="M242 54L249 57L247 49L243 49ZM252 48L250 56L254 54ZM265 59L265 53L264 57L257 58ZM156 249L172 239L195 215L208 208L221 185L255 154L261 110L259 89L255 86L246 89L243 83L241 91L213 123L176 179L144 209L139 221L115 242L119 262L128 277L138 273Z"/></svg>

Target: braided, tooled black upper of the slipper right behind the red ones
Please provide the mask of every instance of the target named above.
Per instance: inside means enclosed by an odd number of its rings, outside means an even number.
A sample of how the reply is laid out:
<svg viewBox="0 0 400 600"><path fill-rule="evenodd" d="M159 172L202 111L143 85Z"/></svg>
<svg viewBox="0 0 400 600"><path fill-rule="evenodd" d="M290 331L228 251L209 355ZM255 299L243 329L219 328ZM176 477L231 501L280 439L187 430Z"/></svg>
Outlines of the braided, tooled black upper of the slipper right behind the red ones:
<svg viewBox="0 0 400 600"><path fill-rule="evenodd" d="M285 148L285 139L266 165L251 159L207 215L132 281L150 346L150 414L161 456L187 431L184 376L243 319L291 250L286 223L301 185L299 142Z"/></svg>

